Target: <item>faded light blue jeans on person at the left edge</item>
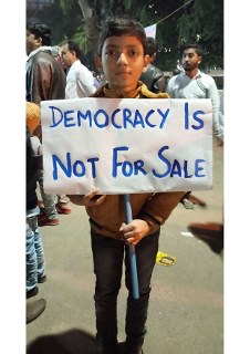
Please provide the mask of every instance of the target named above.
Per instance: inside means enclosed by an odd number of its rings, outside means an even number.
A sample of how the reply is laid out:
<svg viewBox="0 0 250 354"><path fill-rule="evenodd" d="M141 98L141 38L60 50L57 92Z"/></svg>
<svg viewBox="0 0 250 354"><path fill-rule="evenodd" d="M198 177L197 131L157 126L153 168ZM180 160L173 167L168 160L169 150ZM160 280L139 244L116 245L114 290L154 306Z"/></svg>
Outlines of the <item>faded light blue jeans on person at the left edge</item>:
<svg viewBox="0 0 250 354"><path fill-rule="evenodd" d="M38 277L45 274L42 238L38 228L39 207L27 211L27 291L38 284Z"/></svg>

